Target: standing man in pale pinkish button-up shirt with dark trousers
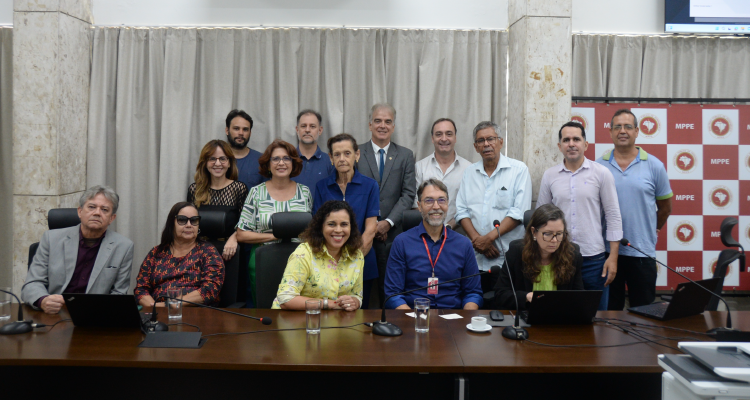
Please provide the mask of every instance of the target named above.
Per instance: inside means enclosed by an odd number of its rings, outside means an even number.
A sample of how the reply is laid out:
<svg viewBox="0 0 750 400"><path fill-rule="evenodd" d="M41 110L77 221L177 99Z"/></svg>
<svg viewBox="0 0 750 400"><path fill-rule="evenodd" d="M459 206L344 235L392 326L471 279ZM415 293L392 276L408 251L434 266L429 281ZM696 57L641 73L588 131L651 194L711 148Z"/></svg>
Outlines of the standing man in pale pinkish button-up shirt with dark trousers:
<svg viewBox="0 0 750 400"><path fill-rule="evenodd" d="M557 148L565 160L544 172L536 206L552 203L565 213L570 240L580 246L583 255L583 287L601 290L599 310L606 310L609 284L617 275L622 219L615 178L607 167L584 156L588 145L583 125L567 122L560 128ZM607 222L604 236L602 213Z"/></svg>

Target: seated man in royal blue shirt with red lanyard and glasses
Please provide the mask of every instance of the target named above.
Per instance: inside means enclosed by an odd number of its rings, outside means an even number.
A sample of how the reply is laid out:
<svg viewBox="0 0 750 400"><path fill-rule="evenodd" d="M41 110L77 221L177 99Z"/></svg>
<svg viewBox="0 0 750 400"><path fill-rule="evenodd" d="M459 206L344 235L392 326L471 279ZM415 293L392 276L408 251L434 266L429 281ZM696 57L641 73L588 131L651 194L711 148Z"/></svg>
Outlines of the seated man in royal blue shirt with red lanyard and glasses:
<svg viewBox="0 0 750 400"><path fill-rule="evenodd" d="M447 229L448 189L428 179L417 190L422 223L396 236L385 272L386 298L396 293L479 273L471 241ZM448 232L450 231L450 233ZM416 298L433 308L477 310L482 305L478 276L393 296L385 308L410 309Z"/></svg>

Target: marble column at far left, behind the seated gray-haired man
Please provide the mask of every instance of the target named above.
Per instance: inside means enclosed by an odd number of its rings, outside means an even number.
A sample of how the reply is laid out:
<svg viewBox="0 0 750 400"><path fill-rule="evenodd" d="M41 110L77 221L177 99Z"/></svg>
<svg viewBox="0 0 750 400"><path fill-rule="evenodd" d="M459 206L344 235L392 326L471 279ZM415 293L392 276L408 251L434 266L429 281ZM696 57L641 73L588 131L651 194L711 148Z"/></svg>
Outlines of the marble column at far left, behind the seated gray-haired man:
<svg viewBox="0 0 750 400"><path fill-rule="evenodd" d="M90 0L13 2L13 290L47 211L86 189Z"/></svg>

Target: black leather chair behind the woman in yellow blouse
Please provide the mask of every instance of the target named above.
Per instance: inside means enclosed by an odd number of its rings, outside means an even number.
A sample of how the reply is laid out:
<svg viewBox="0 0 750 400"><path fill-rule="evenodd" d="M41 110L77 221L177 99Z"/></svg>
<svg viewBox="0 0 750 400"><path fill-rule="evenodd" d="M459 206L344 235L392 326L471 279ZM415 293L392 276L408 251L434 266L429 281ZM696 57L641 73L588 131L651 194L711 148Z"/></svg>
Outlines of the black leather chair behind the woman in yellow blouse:
<svg viewBox="0 0 750 400"><path fill-rule="evenodd" d="M287 260L299 245L292 242L292 239L299 237L311 219L310 213L300 212L283 212L271 216L273 236L281 239L281 243L271 243L255 249L256 308L271 308L273 305Z"/></svg>

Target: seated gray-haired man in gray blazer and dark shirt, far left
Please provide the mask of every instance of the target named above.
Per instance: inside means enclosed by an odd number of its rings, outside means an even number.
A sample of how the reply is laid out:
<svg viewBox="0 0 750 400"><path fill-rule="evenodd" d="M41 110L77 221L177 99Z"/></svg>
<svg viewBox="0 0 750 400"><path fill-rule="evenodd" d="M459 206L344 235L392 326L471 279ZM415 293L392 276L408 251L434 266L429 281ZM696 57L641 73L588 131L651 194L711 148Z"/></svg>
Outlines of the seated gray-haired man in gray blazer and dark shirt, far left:
<svg viewBox="0 0 750 400"><path fill-rule="evenodd" d="M65 304L61 293L128 291L133 242L107 230L119 201L111 188L93 186L79 200L79 225L44 232L21 291L24 303L57 314Z"/></svg>

